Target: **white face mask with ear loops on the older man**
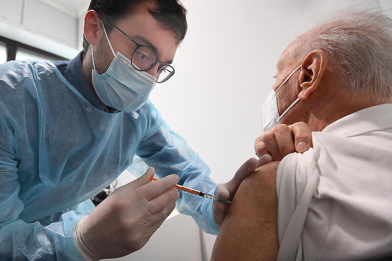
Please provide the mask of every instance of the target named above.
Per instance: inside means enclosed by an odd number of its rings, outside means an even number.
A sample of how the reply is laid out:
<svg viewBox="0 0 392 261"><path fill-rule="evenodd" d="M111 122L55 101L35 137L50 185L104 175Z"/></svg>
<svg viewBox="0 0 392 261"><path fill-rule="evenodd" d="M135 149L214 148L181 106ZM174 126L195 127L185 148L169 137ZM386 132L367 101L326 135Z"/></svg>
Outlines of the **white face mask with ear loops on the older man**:
<svg viewBox="0 0 392 261"><path fill-rule="evenodd" d="M263 103L263 132L270 130L271 128L275 127L276 125L280 124L280 119L291 109L293 106L299 101L297 98L283 113L279 116L278 112L278 102L276 100L276 94L278 93L279 89L285 84L291 76L293 76L295 71L298 71L301 66L298 66L287 78L283 81L283 83L279 86L278 89L274 92L271 90L270 95L268 95L267 99Z"/></svg>

